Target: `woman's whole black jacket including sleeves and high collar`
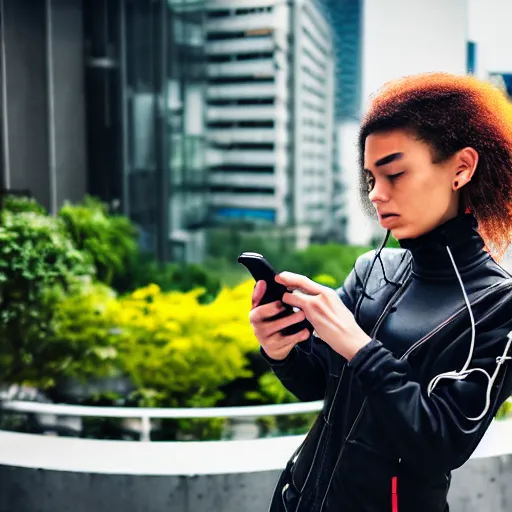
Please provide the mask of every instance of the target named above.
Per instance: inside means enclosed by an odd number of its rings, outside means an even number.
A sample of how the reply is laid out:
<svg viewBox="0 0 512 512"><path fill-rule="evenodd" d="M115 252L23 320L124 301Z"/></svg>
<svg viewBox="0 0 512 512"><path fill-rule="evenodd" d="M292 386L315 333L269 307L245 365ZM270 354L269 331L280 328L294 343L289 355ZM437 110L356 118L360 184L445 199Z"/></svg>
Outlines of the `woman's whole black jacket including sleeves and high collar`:
<svg viewBox="0 0 512 512"><path fill-rule="evenodd" d="M372 251L356 261L339 295L372 341L347 361L321 340L284 361L263 356L300 400L323 411L290 459L271 510L443 512L451 470L468 460L499 406L512 372L503 358L512 329L512 280L485 251L472 215ZM453 255L475 319L471 318ZM364 286L366 282L366 286ZM364 289L364 291L363 291ZM512 350L510 350L512 354ZM437 375L479 368L461 380Z"/></svg>

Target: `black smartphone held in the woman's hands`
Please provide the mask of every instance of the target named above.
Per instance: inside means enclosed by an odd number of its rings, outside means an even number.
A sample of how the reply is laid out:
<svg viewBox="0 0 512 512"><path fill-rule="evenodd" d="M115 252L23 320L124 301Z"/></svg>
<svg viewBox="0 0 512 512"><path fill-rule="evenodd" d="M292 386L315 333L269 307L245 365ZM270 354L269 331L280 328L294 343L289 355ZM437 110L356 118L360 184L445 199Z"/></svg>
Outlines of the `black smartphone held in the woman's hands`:
<svg viewBox="0 0 512 512"><path fill-rule="evenodd" d="M289 291L286 286L276 282L276 271L274 270L274 267L272 267L272 265L261 254L257 252L243 252L238 257L238 263L241 263L251 273L255 281L265 281L267 283L267 289L260 301L260 305L269 304L270 302L275 302L277 300L282 301L285 292ZM285 316L293 314L294 311L292 306L285 304L284 302L283 305L286 309L272 317L272 320L278 320L279 318L284 318ZM284 336L288 336L304 329L308 329L310 333L313 332L313 326L307 318L301 322L285 327L281 333Z"/></svg>

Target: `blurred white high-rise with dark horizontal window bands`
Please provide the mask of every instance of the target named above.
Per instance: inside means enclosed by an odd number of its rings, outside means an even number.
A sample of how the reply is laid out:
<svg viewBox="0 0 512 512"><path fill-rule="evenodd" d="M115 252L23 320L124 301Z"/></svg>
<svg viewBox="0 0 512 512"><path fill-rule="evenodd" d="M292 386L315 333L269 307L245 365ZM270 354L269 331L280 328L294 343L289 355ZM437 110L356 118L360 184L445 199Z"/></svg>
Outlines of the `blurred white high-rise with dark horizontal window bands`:
<svg viewBox="0 0 512 512"><path fill-rule="evenodd" d="M215 0L207 13L212 218L324 229L334 70L322 12L310 0Z"/></svg>

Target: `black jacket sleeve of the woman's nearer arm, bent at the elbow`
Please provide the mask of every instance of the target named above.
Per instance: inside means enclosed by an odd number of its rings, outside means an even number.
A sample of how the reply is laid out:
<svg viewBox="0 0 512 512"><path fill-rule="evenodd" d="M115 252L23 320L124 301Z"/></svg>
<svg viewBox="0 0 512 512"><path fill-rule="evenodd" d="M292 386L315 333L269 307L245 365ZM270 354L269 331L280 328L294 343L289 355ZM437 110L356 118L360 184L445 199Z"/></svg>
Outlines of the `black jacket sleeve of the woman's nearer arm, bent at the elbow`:
<svg viewBox="0 0 512 512"><path fill-rule="evenodd" d="M488 322L486 330L477 327L469 369L481 368L494 375L511 328L511 308L507 305L505 309L501 319L495 315ZM465 334L457 343L465 347L467 357L469 337L467 331ZM510 352L507 355L512 355ZM505 360L501 365L491 388L489 409L479 421L468 418L478 418L486 407L489 379L482 372L472 372L464 380L442 379L429 396L428 382L415 379L411 364L395 358L374 339L347 366L354 370L366 393L376 426L402 463L420 473L456 469L469 459L497 409L510 395L511 362Z"/></svg>

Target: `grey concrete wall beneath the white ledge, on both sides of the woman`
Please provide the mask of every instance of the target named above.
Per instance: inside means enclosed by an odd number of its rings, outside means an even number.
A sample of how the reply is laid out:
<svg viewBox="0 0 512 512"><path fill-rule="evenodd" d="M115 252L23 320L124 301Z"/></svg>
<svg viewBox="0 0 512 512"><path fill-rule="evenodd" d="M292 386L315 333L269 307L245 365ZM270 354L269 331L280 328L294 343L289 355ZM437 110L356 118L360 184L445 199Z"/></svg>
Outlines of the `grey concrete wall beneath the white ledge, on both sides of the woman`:
<svg viewBox="0 0 512 512"><path fill-rule="evenodd" d="M229 475L84 474L0 466L0 512L266 512L278 471ZM450 512L512 509L512 456L454 472Z"/></svg>

